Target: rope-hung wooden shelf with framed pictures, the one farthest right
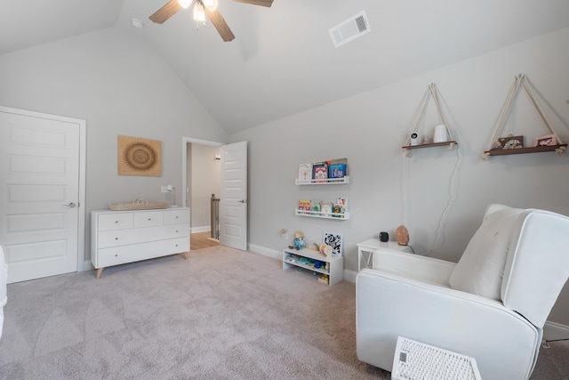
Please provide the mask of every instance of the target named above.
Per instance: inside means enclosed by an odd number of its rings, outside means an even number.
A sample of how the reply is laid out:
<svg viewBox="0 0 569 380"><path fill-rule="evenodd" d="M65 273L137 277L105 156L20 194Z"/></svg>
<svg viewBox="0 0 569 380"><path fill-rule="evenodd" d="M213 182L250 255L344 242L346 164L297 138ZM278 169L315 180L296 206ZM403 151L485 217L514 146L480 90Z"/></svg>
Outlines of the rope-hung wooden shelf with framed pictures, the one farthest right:
<svg viewBox="0 0 569 380"><path fill-rule="evenodd" d="M530 104L535 110L535 113L541 120L541 124L543 124L551 133L552 136L555 137L556 144L553 145L539 145L534 147L523 147L523 148L516 148L516 149L501 149L495 148L496 141L499 140L499 136L501 130L503 129L506 119L509 117L509 112L512 109L512 104L514 99L516 98L516 94L519 89L522 88L524 90L527 99L530 101ZM509 89L508 96L506 97L506 101L501 109L500 116L498 117L498 121L496 122L496 127L494 130L492 141L490 142L490 148L485 150L483 159L487 160L491 156L506 156L510 154L522 154L522 153L538 153L544 151L556 151L557 156L563 156L565 153L565 149L567 148L567 144L564 144L563 141L559 138L553 126L549 122L549 118L545 114L545 111L541 108L540 102L537 100L537 96L533 91L533 87L530 84L525 74L519 74L514 80L514 83Z"/></svg>

